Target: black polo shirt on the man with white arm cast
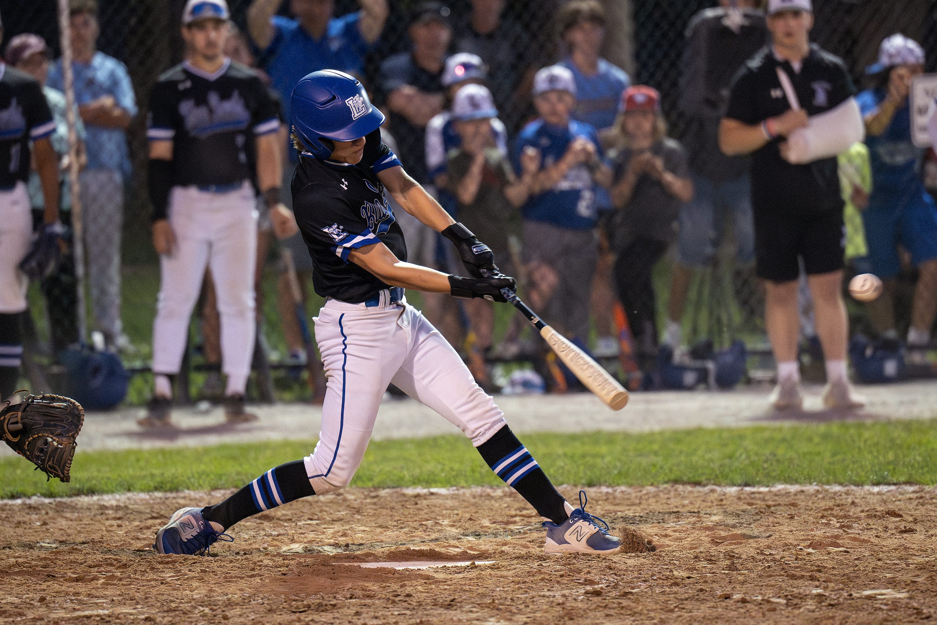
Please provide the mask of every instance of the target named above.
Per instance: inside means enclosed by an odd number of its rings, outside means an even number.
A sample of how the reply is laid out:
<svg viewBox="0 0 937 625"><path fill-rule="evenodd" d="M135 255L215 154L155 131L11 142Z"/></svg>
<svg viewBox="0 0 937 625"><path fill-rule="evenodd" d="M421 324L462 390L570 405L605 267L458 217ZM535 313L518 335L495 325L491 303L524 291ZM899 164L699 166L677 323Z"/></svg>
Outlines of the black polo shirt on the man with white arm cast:
<svg viewBox="0 0 937 625"><path fill-rule="evenodd" d="M788 61L779 61L769 46L739 70L725 116L755 125L787 112L791 107L778 78L779 67L790 77L800 106L811 116L825 113L855 96L853 80L839 57L814 44L800 71L796 71ZM752 155L753 208L842 210L836 158L792 165L781 158L782 140L778 138Z"/></svg>

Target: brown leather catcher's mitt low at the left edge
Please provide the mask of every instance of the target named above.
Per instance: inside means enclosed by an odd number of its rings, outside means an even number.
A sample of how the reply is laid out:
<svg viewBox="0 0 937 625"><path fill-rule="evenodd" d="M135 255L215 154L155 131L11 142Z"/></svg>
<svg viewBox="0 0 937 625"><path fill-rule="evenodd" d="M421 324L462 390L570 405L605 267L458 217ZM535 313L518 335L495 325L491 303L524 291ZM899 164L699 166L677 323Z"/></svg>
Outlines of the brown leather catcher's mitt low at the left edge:
<svg viewBox="0 0 937 625"><path fill-rule="evenodd" d="M0 435L7 445L49 479L70 480L75 437L83 422L82 404L61 395L29 395L21 404L7 401L0 409Z"/></svg>

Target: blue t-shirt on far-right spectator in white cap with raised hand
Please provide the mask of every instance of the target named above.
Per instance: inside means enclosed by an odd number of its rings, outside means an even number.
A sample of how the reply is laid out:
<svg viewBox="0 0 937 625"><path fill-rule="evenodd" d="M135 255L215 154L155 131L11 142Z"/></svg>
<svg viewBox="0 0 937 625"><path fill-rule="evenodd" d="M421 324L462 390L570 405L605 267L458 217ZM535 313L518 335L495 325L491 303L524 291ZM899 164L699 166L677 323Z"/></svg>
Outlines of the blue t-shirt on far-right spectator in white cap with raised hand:
<svg viewBox="0 0 937 625"><path fill-rule="evenodd" d="M869 89L858 95L856 100L862 116L874 113L885 101L885 89ZM911 105L905 102L895 112L891 124L881 136L866 136L872 166L872 194L879 192L908 191L922 187L918 175L923 150L911 140Z"/></svg>

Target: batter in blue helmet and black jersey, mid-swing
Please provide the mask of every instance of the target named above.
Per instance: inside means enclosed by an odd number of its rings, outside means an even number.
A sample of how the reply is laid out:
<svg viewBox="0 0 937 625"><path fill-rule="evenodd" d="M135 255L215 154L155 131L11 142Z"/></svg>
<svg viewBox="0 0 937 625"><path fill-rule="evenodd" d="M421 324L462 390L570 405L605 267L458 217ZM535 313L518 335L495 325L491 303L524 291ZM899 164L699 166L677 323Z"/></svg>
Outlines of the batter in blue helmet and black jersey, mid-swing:
<svg viewBox="0 0 937 625"><path fill-rule="evenodd" d="M484 462L544 518L547 553L614 553L601 519L566 502L517 439L494 400L404 289L504 301L513 288L491 250L407 175L380 141L384 115L340 71L313 72L292 93L293 142L301 157L293 209L326 297L316 340L328 386L312 455L275 466L214 506L183 508L156 533L163 554L203 554L235 523L294 499L348 486L361 464L381 396L394 383L457 425ZM451 239L471 278L406 262L407 247L384 192ZM600 526L600 524L602 526Z"/></svg>

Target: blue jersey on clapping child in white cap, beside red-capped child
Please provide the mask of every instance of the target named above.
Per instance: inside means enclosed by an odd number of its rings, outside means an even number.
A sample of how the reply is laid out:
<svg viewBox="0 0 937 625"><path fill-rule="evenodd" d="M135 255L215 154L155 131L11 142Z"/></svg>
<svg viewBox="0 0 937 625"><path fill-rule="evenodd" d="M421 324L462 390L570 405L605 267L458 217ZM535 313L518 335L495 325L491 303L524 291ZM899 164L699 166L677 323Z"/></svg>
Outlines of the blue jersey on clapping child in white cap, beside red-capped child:
<svg viewBox="0 0 937 625"><path fill-rule="evenodd" d="M541 168L546 169L563 158L566 148L575 137L585 137L595 144L602 158L599 137L588 124L574 119L570 120L567 127L550 126L543 119L530 122L517 136L514 170L522 171L520 155L526 146L531 145L540 150ZM521 208L521 214L524 219L545 221L561 228L587 230L594 227L598 219L596 189L585 163L580 163L571 167L551 189L531 196Z"/></svg>

